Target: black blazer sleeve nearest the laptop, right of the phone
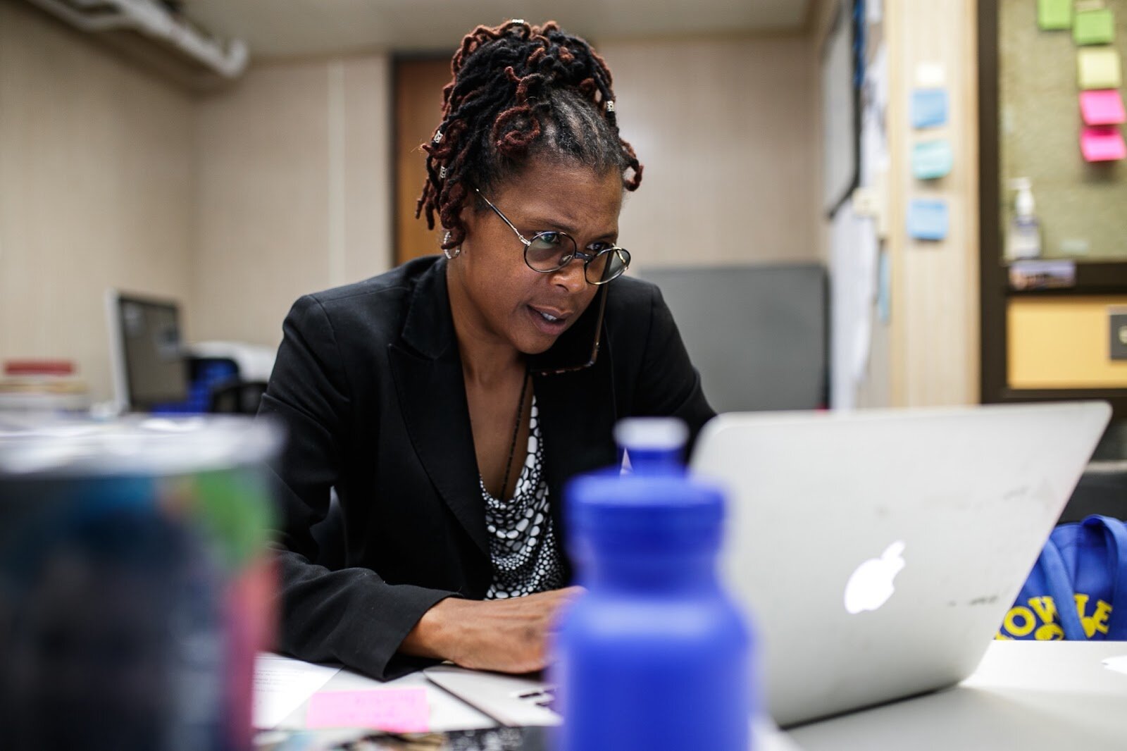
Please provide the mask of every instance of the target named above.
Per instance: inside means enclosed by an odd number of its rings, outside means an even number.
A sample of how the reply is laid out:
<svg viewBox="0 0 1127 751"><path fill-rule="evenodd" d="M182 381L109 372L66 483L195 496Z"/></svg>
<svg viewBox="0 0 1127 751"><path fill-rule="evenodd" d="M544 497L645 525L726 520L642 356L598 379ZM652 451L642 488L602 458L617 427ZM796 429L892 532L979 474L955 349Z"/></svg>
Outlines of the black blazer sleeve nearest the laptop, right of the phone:
<svg viewBox="0 0 1127 751"><path fill-rule="evenodd" d="M689 425L689 451L716 410L704 398L701 377L689 360L673 313L657 286L653 286L649 326L638 377L636 416L680 417Z"/></svg>

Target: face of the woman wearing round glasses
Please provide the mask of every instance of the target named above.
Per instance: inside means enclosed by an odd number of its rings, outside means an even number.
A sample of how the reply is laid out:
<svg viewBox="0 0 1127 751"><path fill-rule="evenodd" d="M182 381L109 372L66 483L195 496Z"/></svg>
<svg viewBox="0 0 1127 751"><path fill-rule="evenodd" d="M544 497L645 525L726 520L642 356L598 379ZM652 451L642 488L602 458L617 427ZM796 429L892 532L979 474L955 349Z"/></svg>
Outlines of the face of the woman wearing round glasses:
<svg viewBox="0 0 1127 751"><path fill-rule="evenodd" d="M533 159L492 195L486 195L526 239L548 230L570 235L579 250L614 245L622 209L622 178L582 166ZM524 263L524 245L491 210L467 200L462 255L451 263L469 302L465 321L478 336L504 342L525 354L548 350L579 318L598 288L584 277L582 259L539 273ZM455 311L455 315L465 311Z"/></svg>

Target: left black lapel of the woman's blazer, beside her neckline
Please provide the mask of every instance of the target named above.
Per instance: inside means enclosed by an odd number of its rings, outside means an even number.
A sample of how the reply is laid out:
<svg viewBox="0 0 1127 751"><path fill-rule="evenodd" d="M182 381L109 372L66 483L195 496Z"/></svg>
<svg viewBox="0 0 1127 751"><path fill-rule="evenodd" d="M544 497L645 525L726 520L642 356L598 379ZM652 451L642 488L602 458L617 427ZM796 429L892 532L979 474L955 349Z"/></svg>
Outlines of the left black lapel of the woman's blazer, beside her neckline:
<svg viewBox="0 0 1127 751"><path fill-rule="evenodd" d="M478 489L465 383L446 295L446 264L436 263L411 297L402 344L389 345L399 407L411 445L442 500L485 555L485 502Z"/></svg>

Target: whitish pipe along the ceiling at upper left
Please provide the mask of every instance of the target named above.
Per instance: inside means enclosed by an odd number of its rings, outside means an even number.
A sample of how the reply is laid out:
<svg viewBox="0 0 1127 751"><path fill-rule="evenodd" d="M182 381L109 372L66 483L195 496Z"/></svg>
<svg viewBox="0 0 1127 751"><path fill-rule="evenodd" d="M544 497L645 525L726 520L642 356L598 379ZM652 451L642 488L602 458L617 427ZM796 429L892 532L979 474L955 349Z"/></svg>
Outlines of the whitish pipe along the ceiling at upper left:
<svg viewBox="0 0 1127 751"><path fill-rule="evenodd" d="M170 43L224 78L238 78L247 68L249 53L242 39L231 39L224 50L154 0L28 1L83 32L133 29Z"/></svg>

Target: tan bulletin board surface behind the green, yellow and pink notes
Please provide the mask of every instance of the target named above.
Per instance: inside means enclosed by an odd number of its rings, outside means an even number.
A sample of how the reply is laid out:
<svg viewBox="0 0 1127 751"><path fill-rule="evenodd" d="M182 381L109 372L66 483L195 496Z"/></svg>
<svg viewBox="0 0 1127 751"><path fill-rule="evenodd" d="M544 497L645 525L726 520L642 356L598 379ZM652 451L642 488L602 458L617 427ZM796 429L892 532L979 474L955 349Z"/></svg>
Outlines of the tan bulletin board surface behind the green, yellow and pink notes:
<svg viewBox="0 0 1127 751"><path fill-rule="evenodd" d="M1127 73L1127 0L1103 5L1115 15L1112 46ZM1011 180L1028 177L1042 257L1127 260L1127 161L1086 162L1081 154L1080 47L1068 29L1041 30L1037 6L1038 0L997 0L1002 232L1012 217ZM1127 133L1127 125L1120 127Z"/></svg>

